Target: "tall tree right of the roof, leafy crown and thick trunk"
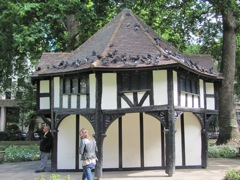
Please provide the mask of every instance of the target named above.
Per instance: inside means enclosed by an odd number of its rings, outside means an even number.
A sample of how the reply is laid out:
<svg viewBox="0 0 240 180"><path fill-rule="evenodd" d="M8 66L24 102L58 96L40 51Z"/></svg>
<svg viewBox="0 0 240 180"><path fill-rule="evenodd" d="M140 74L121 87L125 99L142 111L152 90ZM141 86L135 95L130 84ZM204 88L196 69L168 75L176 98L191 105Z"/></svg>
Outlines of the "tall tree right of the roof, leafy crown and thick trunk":
<svg viewBox="0 0 240 180"><path fill-rule="evenodd" d="M155 0L134 1L139 14L159 34L184 51L192 37L197 37L200 53L210 53L220 61L224 80L219 92L219 137L216 144L238 140L235 113L236 36L239 33L240 2L237 0ZM133 6L134 7L134 6ZM157 23L156 23L157 22ZM220 54L221 52L222 54ZM237 78L238 79L238 78Z"/></svg>

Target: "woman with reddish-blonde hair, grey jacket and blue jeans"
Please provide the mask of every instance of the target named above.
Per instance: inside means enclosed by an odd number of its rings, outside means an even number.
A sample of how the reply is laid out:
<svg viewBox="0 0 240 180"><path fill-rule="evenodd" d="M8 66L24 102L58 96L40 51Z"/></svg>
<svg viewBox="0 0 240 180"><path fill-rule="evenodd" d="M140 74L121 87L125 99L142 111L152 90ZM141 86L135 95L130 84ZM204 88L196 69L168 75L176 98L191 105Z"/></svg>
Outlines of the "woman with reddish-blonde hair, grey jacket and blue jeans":
<svg viewBox="0 0 240 180"><path fill-rule="evenodd" d="M81 160L83 167L82 180L92 180L91 171L95 167L97 160L96 141L89 136L88 130L84 128L80 130L79 134L81 138L79 153L82 155Z"/></svg>

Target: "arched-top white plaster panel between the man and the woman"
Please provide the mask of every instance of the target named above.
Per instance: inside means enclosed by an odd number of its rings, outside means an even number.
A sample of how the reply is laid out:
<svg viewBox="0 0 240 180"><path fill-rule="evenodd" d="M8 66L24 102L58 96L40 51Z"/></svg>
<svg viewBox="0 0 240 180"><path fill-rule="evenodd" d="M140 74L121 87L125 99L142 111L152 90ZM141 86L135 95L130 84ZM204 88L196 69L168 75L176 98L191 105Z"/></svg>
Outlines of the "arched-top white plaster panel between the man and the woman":
<svg viewBox="0 0 240 180"><path fill-rule="evenodd" d="M58 132L57 168L75 169L76 116L71 115L61 121Z"/></svg>

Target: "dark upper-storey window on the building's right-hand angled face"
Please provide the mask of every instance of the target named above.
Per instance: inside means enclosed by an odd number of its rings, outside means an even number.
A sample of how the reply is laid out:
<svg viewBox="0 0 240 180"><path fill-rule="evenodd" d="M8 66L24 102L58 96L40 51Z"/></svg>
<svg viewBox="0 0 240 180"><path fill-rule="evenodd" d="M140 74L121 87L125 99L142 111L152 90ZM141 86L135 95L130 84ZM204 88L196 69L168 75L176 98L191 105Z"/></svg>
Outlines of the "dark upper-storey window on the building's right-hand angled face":
<svg viewBox="0 0 240 180"><path fill-rule="evenodd" d="M180 76L180 91L193 93L193 94L199 94L198 90L198 80L196 78L190 77L190 76Z"/></svg>

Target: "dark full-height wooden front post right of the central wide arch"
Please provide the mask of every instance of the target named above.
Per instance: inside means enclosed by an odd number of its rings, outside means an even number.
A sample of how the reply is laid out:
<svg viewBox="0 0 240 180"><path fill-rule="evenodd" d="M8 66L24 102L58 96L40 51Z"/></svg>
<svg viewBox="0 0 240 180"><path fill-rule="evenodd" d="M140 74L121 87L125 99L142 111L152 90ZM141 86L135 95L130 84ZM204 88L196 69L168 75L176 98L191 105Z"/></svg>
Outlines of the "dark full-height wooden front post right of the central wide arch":
<svg viewBox="0 0 240 180"><path fill-rule="evenodd" d="M173 72L167 71L168 80L168 116L166 123L166 173L172 176L175 173L175 111L173 96Z"/></svg>

